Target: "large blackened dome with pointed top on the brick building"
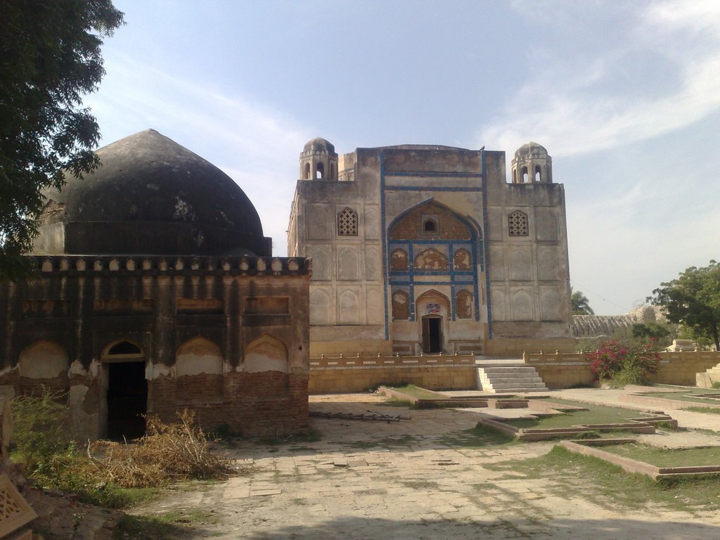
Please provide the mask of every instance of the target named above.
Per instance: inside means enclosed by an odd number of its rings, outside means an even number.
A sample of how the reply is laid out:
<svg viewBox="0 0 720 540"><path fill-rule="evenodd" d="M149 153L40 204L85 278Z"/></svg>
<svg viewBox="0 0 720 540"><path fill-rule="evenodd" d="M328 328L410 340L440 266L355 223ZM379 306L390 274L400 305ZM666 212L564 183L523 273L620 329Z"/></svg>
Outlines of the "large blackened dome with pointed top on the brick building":
<svg viewBox="0 0 720 540"><path fill-rule="evenodd" d="M35 253L271 255L240 186L156 130L96 153L96 171L44 192Z"/></svg>

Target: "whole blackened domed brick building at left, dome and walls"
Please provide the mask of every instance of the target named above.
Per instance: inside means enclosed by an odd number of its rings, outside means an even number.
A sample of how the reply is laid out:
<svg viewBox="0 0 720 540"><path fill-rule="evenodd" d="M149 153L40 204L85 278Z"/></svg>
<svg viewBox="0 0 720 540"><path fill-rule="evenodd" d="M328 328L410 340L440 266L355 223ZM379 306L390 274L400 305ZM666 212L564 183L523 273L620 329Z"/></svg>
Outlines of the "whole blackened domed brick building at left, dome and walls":
<svg viewBox="0 0 720 540"><path fill-rule="evenodd" d="M82 438L143 415L203 428L307 428L310 261L271 256L219 168L154 130L45 193L35 279L0 287L0 384L60 392Z"/></svg>

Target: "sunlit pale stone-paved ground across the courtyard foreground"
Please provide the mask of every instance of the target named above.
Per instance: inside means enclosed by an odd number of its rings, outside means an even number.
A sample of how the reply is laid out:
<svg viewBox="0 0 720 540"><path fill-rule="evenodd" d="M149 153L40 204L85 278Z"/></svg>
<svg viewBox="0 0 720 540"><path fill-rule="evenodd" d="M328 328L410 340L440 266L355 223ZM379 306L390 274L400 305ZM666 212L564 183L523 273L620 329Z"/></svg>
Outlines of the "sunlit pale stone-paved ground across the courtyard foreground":
<svg viewBox="0 0 720 540"><path fill-rule="evenodd" d="M382 400L367 394L313 396L310 410L376 410L412 420L312 418L318 441L239 441L230 457L251 467L251 474L203 491L176 492L135 513L205 516L192 523L188 539L720 538L716 513L600 505L552 479L491 469L493 463L540 456L552 444L449 442L477 424L478 410L408 411L379 405ZM714 434L706 436L720 444Z"/></svg>

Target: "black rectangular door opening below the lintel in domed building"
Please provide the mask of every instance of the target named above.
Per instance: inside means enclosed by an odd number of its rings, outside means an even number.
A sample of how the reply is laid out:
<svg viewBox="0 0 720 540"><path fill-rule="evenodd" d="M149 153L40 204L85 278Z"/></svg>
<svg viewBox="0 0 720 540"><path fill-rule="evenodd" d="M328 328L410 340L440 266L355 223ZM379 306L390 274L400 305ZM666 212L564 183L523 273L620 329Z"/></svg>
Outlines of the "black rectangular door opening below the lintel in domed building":
<svg viewBox="0 0 720 540"><path fill-rule="evenodd" d="M145 361L113 362L107 372L107 438L130 441L145 435L148 381Z"/></svg>

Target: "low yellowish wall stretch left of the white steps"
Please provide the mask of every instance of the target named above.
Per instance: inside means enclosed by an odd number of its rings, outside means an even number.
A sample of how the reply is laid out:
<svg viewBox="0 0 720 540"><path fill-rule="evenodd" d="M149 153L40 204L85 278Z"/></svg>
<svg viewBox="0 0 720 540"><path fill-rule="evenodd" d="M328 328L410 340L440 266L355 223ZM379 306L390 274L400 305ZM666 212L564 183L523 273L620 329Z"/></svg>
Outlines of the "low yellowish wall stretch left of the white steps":
<svg viewBox="0 0 720 540"><path fill-rule="evenodd" d="M475 356L356 356L310 359L310 394L365 392L382 384L415 384L428 390L477 388Z"/></svg>

